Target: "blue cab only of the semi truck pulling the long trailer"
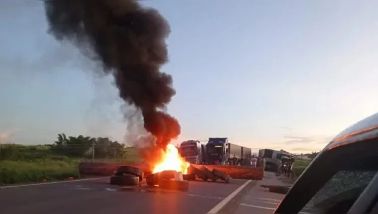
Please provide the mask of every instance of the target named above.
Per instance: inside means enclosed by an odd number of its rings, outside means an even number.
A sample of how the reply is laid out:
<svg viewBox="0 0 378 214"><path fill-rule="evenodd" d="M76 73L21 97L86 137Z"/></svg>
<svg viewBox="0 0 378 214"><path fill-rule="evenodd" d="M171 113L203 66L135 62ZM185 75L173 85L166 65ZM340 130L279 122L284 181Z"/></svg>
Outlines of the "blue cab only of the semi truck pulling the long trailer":
<svg viewBox="0 0 378 214"><path fill-rule="evenodd" d="M205 148L206 163L227 165L229 158L228 144L227 137L209 137Z"/></svg>

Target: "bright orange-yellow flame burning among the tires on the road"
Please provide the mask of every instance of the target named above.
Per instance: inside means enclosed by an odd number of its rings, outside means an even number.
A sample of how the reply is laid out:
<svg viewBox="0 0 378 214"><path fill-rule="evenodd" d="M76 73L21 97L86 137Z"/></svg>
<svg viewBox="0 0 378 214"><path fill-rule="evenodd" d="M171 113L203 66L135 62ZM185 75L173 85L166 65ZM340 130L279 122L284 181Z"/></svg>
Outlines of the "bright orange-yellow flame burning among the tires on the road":
<svg viewBox="0 0 378 214"><path fill-rule="evenodd" d="M190 164L179 154L179 150L174 145L168 144L166 151L163 153L162 160L154 166L152 173L173 170L186 175L189 166Z"/></svg>

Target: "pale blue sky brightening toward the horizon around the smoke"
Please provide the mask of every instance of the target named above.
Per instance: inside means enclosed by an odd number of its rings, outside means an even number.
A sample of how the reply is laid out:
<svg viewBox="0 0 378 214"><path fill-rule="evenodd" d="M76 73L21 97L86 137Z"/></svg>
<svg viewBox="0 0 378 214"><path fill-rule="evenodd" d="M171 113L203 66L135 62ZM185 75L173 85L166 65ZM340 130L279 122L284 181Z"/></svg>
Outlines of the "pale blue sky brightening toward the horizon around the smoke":
<svg viewBox="0 0 378 214"><path fill-rule="evenodd" d="M378 109L378 1L152 0L169 20L181 140L306 153ZM124 142L111 79L46 33L40 1L0 1L3 142L57 134ZM176 142L176 141L175 141Z"/></svg>

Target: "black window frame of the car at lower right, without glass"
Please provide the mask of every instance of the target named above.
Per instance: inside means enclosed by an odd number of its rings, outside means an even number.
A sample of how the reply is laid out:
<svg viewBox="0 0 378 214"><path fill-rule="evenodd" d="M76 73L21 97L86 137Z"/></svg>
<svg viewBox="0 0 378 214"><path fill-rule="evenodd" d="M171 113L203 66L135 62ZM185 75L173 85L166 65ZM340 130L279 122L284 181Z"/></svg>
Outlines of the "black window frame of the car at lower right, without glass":
<svg viewBox="0 0 378 214"><path fill-rule="evenodd" d="M378 170L378 165L364 165L356 161L378 159L376 152L377 145L378 138L373 138L324 150L298 178L274 213L299 213L315 194L339 171L346 169L353 170L354 168L358 170ZM303 194L303 190L306 190L306 194Z"/></svg>

